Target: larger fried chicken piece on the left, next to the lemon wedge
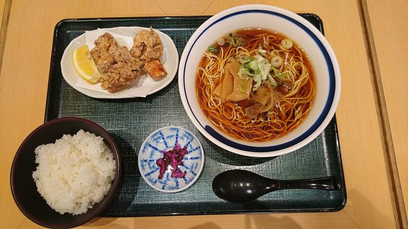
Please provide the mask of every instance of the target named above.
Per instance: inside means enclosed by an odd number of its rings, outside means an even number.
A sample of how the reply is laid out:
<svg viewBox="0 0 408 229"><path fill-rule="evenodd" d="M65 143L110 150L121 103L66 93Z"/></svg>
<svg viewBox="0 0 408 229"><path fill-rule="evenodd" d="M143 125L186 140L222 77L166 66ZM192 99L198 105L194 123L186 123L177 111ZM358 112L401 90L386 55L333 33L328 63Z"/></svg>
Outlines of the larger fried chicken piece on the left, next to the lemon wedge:
<svg viewBox="0 0 408 229"><path fill-rule="evenodd" d="M144 73L143 63L134 58L126 47L118 47L109 33L99 36L94 43L91 55L101 74L99 81L103 89L110 93L118 92Z"/></svg>

